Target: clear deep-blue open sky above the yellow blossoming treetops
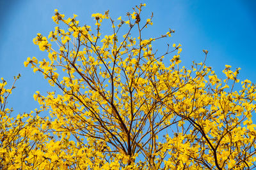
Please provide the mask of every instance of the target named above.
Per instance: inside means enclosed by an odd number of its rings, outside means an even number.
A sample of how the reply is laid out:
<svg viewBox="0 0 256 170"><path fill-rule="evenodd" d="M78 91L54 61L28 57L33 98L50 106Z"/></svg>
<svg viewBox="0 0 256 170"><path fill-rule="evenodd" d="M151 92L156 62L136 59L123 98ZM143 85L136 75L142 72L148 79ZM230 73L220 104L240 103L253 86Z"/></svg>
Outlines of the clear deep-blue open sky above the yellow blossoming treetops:
<svg viewBox="0 0 256 170"><path fill-rule="evenodd" d="M47 57L33 45L38 32L47 36L56 27L52 21L54 9L66 17L78 15L80 23L93 25L92 13L110 11L113 18L125 16L132 7L146 3L144 16L154 12L154 25L145 31L146 36L157 36L168 31L176 32L166 43L182 45L182 65L204 59L203 49L209 50L207 65L223 76L225 64L241 67L240 79L256 82L256 1L106 1L106 0L45 0L45 1L0 1L0 77L9 83L18 73L22 77L10 97L9 106L16 112L30 112L38 107L33 100L36 90L51 90L47 81L32 69L24 67L27 57ZM165 50L163 45L154 46ZM43 93L45 94L45 93Z"/></svg>

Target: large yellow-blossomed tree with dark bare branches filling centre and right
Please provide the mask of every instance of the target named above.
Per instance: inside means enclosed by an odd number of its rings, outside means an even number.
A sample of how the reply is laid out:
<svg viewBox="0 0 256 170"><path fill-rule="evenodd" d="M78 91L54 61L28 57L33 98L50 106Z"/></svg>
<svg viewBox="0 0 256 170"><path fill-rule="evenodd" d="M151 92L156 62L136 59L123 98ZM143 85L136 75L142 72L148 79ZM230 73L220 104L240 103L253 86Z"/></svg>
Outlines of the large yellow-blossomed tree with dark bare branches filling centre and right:
<svg viewBox="0 0 256 170"><path fill-rule="evenodd" d="M24 121L33 133L26 135L25 148L18 146L26 154L19 149L1 162L3 167L255 167L255 84L244 80L237 92L239 68L232 71L226 65L226 79L220 80L205 60L193 63L191 69L180 68L181 45L168 45L158 54L154 41L174 31L143 39L153 17L141 20L143 6L127 13L126 21L113 20L108 11L93 14L96 31L80 26L77 15L65 20L55 10L52 19L67 30L55 27L48 38L38 34L33 41L48 58L39 62L28 58L24 65L42 73L56 90L46 96L36 92L41 107L28 119L34 125ZM111 34L101 35L102 20L109 20ZM164 62L171 53L175 53L172 59ZM206 59L208 51L204 53ZM49 117L41 117L42 111ZM25 139L24 134L19 138Z"/></svg>

